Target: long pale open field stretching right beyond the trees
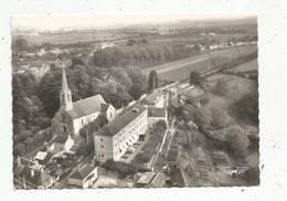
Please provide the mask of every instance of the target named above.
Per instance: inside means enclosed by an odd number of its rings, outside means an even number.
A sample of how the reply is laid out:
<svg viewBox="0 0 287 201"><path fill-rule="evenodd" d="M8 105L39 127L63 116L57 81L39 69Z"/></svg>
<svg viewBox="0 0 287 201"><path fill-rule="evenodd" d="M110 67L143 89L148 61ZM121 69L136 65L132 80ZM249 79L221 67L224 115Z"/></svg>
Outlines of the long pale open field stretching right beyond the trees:
<svg viewBox="0 0 287 201"><path fill-rule="evenodd" d="M240 55L248 55L256 50L257 45L245 45L212 51L210 52L210 54L208 52L204 52L196 56L145 68L142 70L142 73L148 75L150 71L156 70L161 80L182 81L188 78L191 71L196 70L201 73L206 73L208 71L216 68L217 66L225 64L231 60L236 60ZM209 68L210 57L212 60Z"/></svg>

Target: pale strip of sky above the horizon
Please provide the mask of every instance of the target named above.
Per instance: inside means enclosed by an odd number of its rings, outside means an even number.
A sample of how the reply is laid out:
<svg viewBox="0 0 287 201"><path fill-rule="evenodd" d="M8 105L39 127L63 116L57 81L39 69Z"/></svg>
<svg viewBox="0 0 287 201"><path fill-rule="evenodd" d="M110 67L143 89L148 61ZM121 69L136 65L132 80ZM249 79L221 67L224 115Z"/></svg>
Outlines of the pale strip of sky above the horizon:
<svg viewBox="0 0 287 201"><path fill-rule="evenodd" d="M131 25L139 23L164 23L179 20L208 20L208 19L240 19L252 17L248 14L119 14L119 15L73 15L73 17L17 17L11 19L13 29L60 30L67 28L97 28Z"/></svg>

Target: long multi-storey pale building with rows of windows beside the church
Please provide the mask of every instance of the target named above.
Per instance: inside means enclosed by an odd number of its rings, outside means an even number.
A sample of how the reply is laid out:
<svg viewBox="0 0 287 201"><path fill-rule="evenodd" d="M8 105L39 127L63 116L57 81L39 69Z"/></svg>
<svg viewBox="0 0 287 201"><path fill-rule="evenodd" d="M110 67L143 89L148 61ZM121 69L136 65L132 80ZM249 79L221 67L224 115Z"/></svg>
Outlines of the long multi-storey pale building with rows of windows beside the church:
<svg viewBox="0 0 287 201"><path fill-rule="evenodd" d="M119 160L127 148L147 130L148 109L137 105L94 134L95 157L98 161Z"/></svg>

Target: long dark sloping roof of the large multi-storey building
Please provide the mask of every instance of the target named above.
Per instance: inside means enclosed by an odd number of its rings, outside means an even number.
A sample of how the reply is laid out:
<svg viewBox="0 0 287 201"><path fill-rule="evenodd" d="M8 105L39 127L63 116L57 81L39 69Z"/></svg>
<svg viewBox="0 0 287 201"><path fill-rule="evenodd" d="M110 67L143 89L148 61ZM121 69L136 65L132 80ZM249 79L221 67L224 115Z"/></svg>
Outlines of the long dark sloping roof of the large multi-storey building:
<svg viewBox="0 0 287 201"><path fill-rule="evenodd" d="M103 127L99 131L96 133L98 136L114 136L119 133L123 128L125 128L129 123L131 123L135 118L137 118L142 112L147 108L142 105L137 105L126 112L124 115L117 117L111 120L105 127Z"/></svg>

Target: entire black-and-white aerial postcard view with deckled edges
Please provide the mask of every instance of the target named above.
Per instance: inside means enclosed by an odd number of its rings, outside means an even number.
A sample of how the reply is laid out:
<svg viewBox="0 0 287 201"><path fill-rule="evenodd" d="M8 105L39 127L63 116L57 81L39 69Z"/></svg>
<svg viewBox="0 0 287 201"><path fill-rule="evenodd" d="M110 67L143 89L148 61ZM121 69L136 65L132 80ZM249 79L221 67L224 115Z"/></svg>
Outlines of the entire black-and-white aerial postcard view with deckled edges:
<svg viewBox="0 0 287 201"><path fill-rule="evenodd" d="M257 17L11 18L13 187L261 183Z"/></svg>

